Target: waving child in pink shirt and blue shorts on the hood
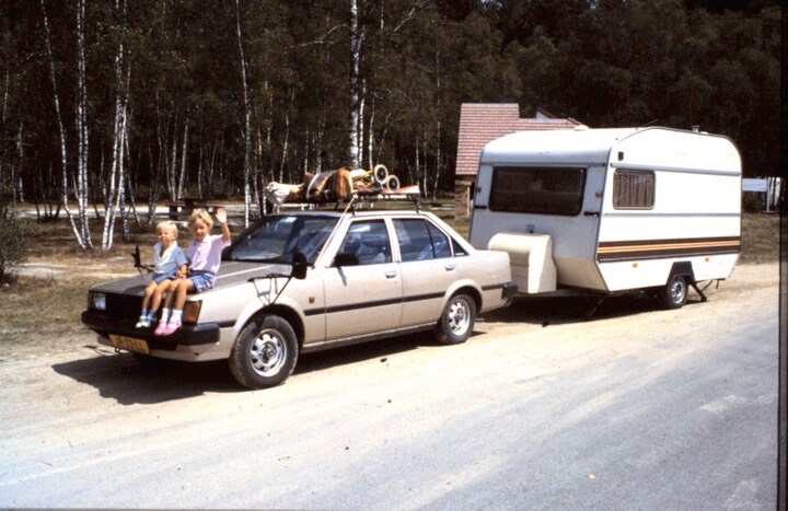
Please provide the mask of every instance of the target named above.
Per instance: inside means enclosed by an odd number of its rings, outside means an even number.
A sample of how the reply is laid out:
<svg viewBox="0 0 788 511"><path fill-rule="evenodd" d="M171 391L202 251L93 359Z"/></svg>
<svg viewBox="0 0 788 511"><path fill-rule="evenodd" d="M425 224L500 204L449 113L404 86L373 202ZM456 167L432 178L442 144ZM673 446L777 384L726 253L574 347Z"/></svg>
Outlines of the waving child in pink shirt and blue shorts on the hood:
<svg viewBox="0 0 788 511"><path fill-rule="evenodd" d="M186 249L186 258L189 260L188 272L185 278L175 280L170 287L155 335L171 335L181 328L186 293L201 293L213 288L221 264L222 249L230 245L230 229L227 224L224 208L217 208L216 218L221 225L222 233L211 235L213 220L206 210L197 209L189 217L188 228L193 241Z"/></svg>

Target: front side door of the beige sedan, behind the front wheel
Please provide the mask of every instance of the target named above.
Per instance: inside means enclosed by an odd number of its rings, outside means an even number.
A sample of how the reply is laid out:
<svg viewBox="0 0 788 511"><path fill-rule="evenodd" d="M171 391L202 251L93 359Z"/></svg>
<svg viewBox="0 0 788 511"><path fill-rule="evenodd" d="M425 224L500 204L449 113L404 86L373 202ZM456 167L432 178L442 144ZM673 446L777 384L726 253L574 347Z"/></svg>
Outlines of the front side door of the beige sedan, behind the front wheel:
<svg viewBox="0 0 788 511"><path fill-rule="evenodd" d="M325 276L327 340L401 326L402 276L384 220L354 221Z"/></svg>

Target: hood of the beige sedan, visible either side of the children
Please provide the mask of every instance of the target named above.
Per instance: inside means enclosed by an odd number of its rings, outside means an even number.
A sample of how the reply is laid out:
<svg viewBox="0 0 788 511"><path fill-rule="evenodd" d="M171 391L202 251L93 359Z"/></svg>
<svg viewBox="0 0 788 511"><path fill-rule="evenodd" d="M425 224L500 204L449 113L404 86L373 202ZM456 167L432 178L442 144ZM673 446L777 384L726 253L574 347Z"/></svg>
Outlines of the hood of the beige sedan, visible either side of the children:
<svg viewBox="0 0 788 511"><path fill-rule="evenodd" d="M286 277L290 275L290 265L274 265L260 263L241 263L234 260L222 262L219 268L213 289L222 289L243 282L252 278L278 275ZM150 275L135 275L125 279L104 282L91 288L91 291L118 294L134 294L141 297L146 286L151 281Z"/></svg>

